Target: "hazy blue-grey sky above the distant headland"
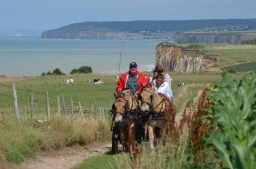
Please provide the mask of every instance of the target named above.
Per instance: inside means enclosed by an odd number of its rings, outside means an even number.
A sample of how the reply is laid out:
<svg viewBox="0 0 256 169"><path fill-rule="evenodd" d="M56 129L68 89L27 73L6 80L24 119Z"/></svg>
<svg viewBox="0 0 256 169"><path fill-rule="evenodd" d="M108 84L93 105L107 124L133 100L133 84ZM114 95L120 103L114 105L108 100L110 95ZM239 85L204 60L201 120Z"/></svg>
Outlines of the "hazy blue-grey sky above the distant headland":
<svg viewBox="0 0 256 169"><path fill-rule="evenodd" d="M256 18L256 0L1 0L0 31L83 21Z"/></svg>

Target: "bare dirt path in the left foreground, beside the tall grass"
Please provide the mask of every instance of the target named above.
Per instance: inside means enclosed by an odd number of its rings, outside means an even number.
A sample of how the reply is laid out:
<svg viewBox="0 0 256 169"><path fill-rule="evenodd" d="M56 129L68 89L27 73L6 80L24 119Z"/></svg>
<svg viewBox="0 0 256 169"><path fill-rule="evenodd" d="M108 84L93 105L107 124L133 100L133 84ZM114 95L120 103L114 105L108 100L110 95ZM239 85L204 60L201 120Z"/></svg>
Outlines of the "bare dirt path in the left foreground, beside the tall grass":
<svg viewBox="0 0 256 169"><path fill-rule="evenodd" d="M73 167L82 162L84 159L103 154L111 150L111 143L95 142L87 146L75 146L71 148L63 148L58 151L39 152L35 159L25 160L21 165L14 167L15 169L65 169Z"/></svg>

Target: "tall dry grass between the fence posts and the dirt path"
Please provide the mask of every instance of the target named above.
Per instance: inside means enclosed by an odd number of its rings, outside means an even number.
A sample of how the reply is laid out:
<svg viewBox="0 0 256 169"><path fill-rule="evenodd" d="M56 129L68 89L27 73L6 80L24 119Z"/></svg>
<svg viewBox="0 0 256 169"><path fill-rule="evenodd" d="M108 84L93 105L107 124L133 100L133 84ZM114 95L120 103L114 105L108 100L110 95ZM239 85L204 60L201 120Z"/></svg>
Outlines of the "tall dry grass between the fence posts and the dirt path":
<svg viewBox="0 0 256 169"><path fill-rule="evenodd" d="M97 118L52 117L46 123L0 118L0 156L13 163L35 157L36 151L56 150L73 144L110 139L108 123ZM1 160L1 159L0 159Z"/></svg>

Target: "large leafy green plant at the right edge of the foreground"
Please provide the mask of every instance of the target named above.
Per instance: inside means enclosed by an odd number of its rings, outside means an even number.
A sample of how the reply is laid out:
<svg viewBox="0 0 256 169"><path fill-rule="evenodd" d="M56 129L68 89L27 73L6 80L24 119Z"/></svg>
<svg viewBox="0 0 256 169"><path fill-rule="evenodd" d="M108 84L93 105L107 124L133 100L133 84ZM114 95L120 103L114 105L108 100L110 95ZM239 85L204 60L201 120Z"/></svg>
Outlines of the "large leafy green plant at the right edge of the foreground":
<svg viewBox="0 0 256 169"><path fill-rule="evenodd" d="M256 77L245 75L240 82L226 72L211 90L211 121L217 124L211 143L228 168L255 168Z"/></svg>

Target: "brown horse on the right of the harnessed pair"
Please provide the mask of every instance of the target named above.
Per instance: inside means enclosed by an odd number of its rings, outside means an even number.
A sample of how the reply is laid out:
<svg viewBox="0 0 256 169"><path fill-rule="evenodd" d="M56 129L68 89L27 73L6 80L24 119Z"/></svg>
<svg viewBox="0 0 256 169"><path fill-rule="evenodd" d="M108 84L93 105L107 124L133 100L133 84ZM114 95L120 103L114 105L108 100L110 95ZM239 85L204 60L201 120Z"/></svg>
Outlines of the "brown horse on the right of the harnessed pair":
<svg viewBox="0 0 256 169"><path fill-rule="evenodd" d="M155 87L148 86L142 87L140 91L140 100L141 111L143 113L150 113L150 119L145 124L145 129L148 129L150 146L154 149L154 141L156 138L155 128L160 128L160 134L163 134L164 127L166 126L163 112L166 106L170 106L170 101L166 97L160 96Z"/></svg>

